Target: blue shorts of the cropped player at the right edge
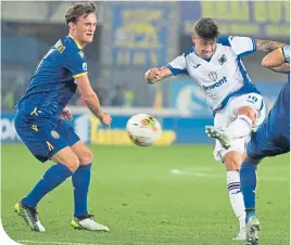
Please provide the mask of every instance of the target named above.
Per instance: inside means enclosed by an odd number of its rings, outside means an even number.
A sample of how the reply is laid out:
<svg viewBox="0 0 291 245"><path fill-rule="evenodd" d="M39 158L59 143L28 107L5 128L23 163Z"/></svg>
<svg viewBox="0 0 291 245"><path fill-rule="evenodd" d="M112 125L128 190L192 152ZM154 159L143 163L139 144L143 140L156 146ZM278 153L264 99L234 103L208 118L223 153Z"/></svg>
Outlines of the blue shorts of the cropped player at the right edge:
<svg viewBox="0 0 291 245"><path fill-rule="evenodd" d="M263 159L290 152L290 139L278 131L269 131L268 122L262 125L246 145L246 154L251 159Z"/></svg>

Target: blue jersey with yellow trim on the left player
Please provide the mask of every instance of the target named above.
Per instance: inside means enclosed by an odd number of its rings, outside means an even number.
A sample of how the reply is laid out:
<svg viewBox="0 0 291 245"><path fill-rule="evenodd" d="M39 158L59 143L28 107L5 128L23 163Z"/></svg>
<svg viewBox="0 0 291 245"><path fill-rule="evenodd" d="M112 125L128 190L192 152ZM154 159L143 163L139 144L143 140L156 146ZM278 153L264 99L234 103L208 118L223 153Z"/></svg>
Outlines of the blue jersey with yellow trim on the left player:
<svg viewBox="0 0 291 245"><path fill-rule="evenodd" d="M75 78L85 74L86 56L79 44L71 36L60 39L39 63L16 108L56 121L76 92Z"/></svg>

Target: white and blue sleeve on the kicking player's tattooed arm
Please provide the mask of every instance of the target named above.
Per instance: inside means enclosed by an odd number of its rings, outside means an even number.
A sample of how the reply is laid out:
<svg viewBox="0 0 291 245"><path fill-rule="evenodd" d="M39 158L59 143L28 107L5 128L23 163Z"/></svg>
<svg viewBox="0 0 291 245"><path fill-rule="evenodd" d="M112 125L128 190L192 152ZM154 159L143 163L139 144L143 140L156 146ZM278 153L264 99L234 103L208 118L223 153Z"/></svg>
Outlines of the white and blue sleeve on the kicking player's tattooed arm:
<svg viewBox="0 0 291 245"><path fill-rule="evenodd" d="M238 56L244 56L256 51L255 39L253 38L229 36L228 40Z"/></svg>

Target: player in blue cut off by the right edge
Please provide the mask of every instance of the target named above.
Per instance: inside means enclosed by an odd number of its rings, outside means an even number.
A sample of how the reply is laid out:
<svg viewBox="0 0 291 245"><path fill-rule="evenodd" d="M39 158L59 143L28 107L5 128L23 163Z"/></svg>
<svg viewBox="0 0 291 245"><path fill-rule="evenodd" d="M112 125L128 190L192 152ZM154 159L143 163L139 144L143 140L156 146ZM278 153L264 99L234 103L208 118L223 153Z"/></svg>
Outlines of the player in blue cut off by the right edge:
<svg viewBox="0 0 291 245"><path fill-rule="evenodd" d="M262 65L277 73L288 74L288 81L282 87L267 120L248 143L246 160L241 166L241 190L246 212L246 245L256 245L258 240L260 221L255 216L257 164L264 157L290 152L290 46L266 55Z"/></svg>

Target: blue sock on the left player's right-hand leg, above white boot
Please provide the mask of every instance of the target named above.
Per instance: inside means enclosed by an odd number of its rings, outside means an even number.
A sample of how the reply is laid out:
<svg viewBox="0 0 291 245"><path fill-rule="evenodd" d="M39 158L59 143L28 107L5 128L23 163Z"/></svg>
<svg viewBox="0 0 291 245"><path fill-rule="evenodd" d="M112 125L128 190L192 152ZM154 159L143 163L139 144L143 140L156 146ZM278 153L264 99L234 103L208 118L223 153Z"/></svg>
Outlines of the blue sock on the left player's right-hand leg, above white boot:
<svg viewBox="0 0 291 245"><path fill-rule="evenodd" d="M72 176L74 186L75 217L88 215L87 197L91 177L91 166L92 164L80 165Z"/></svg>

